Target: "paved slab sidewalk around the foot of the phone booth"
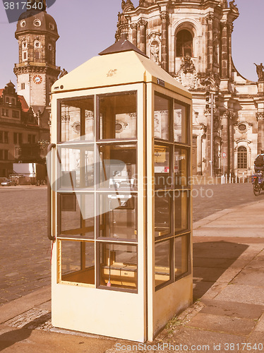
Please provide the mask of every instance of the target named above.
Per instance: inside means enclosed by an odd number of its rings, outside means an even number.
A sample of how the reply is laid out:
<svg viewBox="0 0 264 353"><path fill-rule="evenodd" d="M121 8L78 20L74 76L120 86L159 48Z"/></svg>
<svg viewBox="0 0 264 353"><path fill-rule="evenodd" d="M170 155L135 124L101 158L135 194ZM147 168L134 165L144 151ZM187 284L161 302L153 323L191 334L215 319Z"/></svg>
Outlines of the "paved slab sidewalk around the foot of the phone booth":
<svg viewBox="0 0 264 353"><path fill-rule="evenodd" d="M258 201L194 224L194 304L145 352L264 352L263 215ZM52 328L49 287L0 307L3 352L131 352L132 345L142 352L137 342Z"/></svg>

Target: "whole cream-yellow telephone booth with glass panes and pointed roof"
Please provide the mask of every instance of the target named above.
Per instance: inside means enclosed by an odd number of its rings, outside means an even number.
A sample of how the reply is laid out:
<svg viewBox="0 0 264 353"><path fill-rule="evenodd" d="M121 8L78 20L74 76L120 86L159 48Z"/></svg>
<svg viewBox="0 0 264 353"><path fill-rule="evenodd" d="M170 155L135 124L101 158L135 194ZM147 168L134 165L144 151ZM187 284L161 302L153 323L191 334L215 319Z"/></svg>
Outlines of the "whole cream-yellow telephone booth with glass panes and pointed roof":
<svg viewBox="0 0 264 353"><path fill-rule="evenodd" d="M52 86L52 324L153 340L192 303L191 93L127 40Z"/></svg>

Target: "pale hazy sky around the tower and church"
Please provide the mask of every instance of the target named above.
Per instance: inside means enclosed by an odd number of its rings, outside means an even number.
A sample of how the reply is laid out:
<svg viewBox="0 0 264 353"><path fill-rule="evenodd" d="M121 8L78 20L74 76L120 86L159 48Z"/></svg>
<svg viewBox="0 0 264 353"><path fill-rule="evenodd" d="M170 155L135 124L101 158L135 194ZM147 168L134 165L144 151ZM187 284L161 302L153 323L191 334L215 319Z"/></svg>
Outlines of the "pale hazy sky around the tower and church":
<svg viewBox="0 0 264 353"><path fill-rule="evenodd" d="M14 0L16 2L16 0ZM26 1L26 0L25 0ZM138 0L132 0L138 6ZM256 66L264 62L264 0L236 0L239 18L234 21L232 56L236 69L249 80L257 80ZM121 0L56 0L48 13L56 20L60 38L56 65L69 72L114 43ZM16 23L8 23L0 0L0 88L11 80L18 63Z"/></svg>

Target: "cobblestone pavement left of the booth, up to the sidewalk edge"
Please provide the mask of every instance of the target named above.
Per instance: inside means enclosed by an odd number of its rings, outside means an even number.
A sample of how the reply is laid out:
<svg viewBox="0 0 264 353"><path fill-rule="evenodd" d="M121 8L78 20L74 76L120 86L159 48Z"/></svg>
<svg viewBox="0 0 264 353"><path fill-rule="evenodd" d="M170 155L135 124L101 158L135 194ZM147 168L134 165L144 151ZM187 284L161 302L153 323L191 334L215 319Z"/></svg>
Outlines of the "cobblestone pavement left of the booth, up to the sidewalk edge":
<svg viewBox="0 0 264 353"><path fill-rule="evenodd" d="M50 282L47 188L0 189L0 305Z"/></svg>

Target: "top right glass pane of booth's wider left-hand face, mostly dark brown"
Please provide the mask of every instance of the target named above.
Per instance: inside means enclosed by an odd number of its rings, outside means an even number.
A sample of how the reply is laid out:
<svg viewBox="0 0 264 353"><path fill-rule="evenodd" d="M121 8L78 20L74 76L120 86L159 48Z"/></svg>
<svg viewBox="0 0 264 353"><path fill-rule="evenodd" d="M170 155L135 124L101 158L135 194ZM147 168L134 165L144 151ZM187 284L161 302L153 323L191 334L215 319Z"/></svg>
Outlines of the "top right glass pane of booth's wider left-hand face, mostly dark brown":
<svg viewBox="0 0 264 353"><path fill-rule="evenodd" d="M121 92L99 97L97 140L137 137L137 93Z"/></svg>

